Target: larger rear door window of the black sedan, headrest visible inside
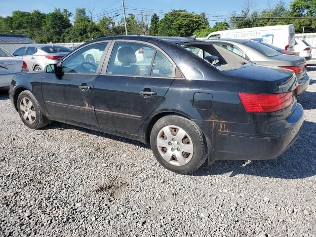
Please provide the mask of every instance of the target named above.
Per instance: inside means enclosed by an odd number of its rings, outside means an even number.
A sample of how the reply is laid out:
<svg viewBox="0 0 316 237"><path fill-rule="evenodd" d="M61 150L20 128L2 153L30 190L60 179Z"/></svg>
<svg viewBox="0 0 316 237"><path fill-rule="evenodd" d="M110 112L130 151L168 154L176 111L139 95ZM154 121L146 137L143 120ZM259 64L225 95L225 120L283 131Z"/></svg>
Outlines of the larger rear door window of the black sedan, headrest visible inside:
<svg viewBox="0 0 316 237"><path fill-rule="evenodd" d="M116 42L107 74L149 76L155 48L141 43Z"/></svg>

